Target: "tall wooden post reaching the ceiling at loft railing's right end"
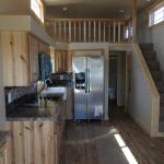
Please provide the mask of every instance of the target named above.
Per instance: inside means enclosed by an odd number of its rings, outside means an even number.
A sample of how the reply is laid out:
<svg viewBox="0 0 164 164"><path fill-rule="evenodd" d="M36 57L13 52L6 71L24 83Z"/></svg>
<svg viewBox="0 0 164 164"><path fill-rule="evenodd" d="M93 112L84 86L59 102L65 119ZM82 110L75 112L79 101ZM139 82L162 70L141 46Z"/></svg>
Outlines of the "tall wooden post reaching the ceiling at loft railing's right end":
<svg viewBox="0 0 164 164"><path fill-rule="evenodd" d="M137 28L137 0L132 0L132 42L136 43Z"/></svg>

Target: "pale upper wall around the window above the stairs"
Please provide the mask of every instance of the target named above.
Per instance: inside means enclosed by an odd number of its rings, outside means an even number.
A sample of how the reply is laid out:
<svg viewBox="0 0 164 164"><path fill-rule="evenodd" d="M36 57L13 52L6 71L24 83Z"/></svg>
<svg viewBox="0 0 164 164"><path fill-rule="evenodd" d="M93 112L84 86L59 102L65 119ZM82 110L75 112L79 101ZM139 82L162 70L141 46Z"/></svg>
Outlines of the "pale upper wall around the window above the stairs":
<svg viewBox="0 0 164 164"><path fill-rule="evenodd" d="M164 71L164 23L151 28L149 27L149 11L155 4L144 9L138 15L138 42L154 44L157 60L160 61L162 71Z"/></svg>

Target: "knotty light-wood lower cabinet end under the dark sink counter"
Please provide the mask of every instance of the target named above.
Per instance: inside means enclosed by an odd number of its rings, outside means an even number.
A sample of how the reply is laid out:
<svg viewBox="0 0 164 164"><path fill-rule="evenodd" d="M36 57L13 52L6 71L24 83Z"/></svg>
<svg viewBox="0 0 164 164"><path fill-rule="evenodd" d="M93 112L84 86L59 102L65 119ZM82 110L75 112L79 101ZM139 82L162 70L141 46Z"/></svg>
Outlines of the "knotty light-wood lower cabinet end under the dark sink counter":
<svg viewBox="0 0 164 164"><path fill-rule="evenodd" d="M54 121L8 121L7 164L58 164Z"/></svg>

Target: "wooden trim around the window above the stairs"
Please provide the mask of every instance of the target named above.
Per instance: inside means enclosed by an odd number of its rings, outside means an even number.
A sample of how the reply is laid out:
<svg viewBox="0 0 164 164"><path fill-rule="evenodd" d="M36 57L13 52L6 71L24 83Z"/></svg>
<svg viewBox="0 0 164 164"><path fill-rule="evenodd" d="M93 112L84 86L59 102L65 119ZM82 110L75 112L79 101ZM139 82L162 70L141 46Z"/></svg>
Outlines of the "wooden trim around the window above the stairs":
<svg viewBox="0 0 164 164"><path fill-rule="evenodd" d="M154 12L157 11L159 9L161 9L161 8L164 8L164 1L156 4L153 9L150 10L150 12L149 12L149 27L157 26L157 25L161 25L161 24L164 23L164 16L163 16L163 20L159 23L154 23L154 21L152 23L151 20L150 20L151 16L154 14Z"/></svg>

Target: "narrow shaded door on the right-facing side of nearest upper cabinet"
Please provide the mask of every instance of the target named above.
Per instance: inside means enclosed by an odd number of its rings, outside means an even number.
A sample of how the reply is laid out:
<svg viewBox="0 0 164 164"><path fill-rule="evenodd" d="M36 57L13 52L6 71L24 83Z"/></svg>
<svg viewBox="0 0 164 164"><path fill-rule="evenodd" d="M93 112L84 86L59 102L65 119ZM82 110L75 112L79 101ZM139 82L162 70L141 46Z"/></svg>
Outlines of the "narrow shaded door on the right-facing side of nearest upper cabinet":
<svg viewBox="0 0 164 164"><path fill-rule="evenodd" d="M38 40L30 36L30 70L31 70L31 82L36 82L38 80Z"/></svg>

